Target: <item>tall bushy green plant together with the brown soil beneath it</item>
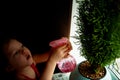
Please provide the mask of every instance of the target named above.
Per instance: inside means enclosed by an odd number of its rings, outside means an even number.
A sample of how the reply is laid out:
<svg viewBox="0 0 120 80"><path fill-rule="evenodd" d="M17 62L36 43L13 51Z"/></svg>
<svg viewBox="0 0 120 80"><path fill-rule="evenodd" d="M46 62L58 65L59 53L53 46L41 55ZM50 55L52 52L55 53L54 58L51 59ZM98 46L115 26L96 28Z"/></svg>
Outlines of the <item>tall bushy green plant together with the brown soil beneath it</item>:
<svg viewBox="0 0 120 80"><path fill-rule="evenodd" d="M82 0L77 3L74 38L81 44L80 54L86 59L78 70L86 79L101 79L106 75L105 67L120 58L120 1Z"/></svg>

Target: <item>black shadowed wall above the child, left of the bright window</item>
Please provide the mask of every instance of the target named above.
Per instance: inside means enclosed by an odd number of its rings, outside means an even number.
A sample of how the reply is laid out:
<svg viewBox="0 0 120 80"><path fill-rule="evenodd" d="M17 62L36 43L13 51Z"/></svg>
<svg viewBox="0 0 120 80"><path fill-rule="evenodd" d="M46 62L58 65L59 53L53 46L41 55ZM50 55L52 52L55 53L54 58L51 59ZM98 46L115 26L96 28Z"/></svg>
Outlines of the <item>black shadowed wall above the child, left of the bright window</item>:
<svg viewBox="0 0 120 80"><path fill-rule="evenodd" d="M33 53L42 53L50 41L69 37L71 10L72 0L5 2L0 35L15 36Z"/></svg>

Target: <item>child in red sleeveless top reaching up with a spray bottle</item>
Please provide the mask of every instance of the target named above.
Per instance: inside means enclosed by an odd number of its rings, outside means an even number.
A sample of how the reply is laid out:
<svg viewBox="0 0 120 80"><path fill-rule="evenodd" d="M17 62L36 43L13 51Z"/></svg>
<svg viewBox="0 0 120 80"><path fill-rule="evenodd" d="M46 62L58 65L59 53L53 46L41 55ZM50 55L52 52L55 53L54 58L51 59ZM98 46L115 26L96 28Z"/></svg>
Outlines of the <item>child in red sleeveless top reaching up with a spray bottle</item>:
<svg viewBox="0 0 120 80"><path fill-rule="evenodd" d="M57 48L51 48L44 54L31 55L30 50L16 39L7 40L1 47L3 50L5 71L14 72L16 80L52 80L56 63L68 55L70 42ZM0 53L2 54L2 53ZM5 60L6 59L6 60ZM36 64L46 61L43 73L39 73Z"/></svg>

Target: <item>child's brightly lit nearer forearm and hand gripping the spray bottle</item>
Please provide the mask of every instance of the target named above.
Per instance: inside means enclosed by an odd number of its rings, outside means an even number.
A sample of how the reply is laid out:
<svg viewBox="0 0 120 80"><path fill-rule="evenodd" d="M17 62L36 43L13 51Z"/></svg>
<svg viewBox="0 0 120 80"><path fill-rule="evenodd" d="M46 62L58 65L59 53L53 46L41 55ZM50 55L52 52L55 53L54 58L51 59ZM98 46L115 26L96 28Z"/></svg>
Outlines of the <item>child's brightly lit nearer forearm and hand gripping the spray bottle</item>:
<svg viewBox="0 0 120 80"><path fill-rule="evenodd" d="M68 46L66 44L52 49L40 80L52 80L57 62L64 58L66 54L68 54Z"/></svg>

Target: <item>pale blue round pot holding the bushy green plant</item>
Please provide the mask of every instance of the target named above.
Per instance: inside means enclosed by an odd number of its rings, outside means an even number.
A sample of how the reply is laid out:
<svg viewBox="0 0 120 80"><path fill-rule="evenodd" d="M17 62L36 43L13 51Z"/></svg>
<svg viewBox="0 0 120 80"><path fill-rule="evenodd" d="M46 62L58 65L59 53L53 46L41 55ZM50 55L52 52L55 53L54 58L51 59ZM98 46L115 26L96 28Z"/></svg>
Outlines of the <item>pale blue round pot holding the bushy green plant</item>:
<svg viewBox="0 0 120 80"><path fill-rule="evenodd" d="M70 80L112 80L111 75L110 75L110 73L109 73L109 71L108 71L108 69L106 67L104 67L105 75L103 77L99 78L99 79L91 79L91 78L83 76L80 73L80 71L79 71L79 66L81 64L82 64L82 62L79 63L76 66L75 70L71 72L71 74L70 74Z"/></svg>

